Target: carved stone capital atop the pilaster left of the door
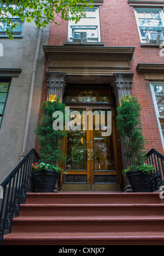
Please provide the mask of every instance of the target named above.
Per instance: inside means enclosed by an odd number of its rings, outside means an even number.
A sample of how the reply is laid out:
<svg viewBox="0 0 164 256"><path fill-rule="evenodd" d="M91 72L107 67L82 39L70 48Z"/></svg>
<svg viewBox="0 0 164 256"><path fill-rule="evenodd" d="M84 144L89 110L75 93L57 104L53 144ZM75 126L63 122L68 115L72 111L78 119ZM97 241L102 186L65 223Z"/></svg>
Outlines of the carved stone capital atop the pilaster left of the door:
<svg viewBox="0 0 164 256"><path fill-rule="evenodd" d="M48 86L48 98L50 95L56 95L57 97L60 97L60 100L62 102L63 95L65 92L65 78L66 73L54 73L49 72L46 73L47 80L47 86Z"/></svg>

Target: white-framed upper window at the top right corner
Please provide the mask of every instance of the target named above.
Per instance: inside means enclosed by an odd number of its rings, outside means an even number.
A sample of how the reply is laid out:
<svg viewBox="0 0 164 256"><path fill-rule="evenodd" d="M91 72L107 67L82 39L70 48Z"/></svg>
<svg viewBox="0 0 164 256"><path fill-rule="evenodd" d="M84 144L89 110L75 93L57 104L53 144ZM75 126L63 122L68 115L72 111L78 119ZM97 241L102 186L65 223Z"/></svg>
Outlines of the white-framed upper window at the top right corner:
<svg viewBox="0 0 164 256"><path fill-rule="evenodd" d="M155 43L159 37L160 43L164 40L164 18L162 9L135 10L140 40L142 43Z"/></svg>

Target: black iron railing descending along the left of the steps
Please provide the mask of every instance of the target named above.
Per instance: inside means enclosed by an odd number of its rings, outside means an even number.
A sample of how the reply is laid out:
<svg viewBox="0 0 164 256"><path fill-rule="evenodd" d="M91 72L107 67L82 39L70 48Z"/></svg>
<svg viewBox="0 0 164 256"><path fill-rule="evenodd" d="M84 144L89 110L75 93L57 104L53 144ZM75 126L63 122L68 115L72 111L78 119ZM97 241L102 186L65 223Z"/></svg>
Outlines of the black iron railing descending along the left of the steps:
<svg viewBox="0 0 164 256"><path fill-rule="evenodd" d="M32 149L2 182L0 190L0 245L5 232L11 232L13 217L19 217L20 204L26 202L27 190L34 192L31 164L39 161Z"/></svg>

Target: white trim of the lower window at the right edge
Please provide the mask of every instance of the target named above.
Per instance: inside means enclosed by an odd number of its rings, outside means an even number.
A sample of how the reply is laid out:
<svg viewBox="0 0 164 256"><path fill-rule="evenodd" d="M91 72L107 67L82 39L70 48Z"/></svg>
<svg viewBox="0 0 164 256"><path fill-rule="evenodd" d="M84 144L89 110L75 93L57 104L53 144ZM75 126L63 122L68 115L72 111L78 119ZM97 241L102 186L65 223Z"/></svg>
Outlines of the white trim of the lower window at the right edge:
<svg viewBox="0 0 164 256"><path fill-rule="evenodd" d="M157 123L159 125L159 131L160 131L160 136L161 136L161 142L162 142L162 146L163 146L163 150L164 150L164 138L163 138L163 133L162 133L162 128L161 128L161 123L160 123L160 114L159 114L159 109L157 106L157 101L156 101L156 97L155 97L155 92L154 92L154 85L164 85L164 82L150 82L150 89L151 89L151 94L153 97L153 102L154 102L154 107L155 107L155 113L156 113L156 118L157 118ZM164 119L164 117L163 117Z"/></svg>

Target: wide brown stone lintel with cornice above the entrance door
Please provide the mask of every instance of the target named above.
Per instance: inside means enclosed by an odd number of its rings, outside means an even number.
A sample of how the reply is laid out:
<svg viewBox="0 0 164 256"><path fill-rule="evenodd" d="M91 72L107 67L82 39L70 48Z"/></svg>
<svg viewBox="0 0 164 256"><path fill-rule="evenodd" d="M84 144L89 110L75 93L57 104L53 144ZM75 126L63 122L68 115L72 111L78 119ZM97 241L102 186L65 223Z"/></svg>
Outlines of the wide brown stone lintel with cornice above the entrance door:
<svg viewBox="0 0 164 256"><path fill-rule="evenodd" d="M130 73L128 61L134 47L102 46L43 46L49 60L49 72L67 75L113 76L114 73Z"/></svg>

